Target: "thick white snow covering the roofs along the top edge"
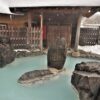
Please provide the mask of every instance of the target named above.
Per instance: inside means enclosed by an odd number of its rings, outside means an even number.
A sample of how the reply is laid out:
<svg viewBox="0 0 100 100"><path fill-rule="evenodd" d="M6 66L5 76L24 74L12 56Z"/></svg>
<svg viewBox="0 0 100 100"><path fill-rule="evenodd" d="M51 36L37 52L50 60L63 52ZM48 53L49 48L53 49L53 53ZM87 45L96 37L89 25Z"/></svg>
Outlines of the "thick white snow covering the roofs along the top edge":
<svg viewBox="0 0 100 100"><path fill-rule="evenodd" d="M100 0L0 0L0 13L11 13L11 7L100 6ZM4 9L4 10L3 10Z"/></svg>

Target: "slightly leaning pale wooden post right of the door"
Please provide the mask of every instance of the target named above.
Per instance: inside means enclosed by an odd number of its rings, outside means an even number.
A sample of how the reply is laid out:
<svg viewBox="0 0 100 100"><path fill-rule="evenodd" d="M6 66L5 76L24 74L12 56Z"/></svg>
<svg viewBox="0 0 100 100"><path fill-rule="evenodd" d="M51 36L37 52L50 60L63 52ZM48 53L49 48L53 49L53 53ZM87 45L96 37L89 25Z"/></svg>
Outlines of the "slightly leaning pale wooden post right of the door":
<svg viewBox="0 0 100 100"><path fill-rule="evenodd" d="M76 31L75 47L74 47L75 51L78 50L78 45L79 45L81 20L82 20L82 14L79 15L77 23L77 31Z"/></svg>

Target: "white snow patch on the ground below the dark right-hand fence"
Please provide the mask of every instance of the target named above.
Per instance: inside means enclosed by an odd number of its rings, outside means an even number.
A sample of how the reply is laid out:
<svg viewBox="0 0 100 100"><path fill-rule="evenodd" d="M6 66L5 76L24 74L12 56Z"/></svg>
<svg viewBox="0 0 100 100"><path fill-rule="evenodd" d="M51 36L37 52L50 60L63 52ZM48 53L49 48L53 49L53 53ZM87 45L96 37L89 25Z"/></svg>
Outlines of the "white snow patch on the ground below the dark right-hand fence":
<svg viewBox="0 0 100 100"><path fill-rule="evenodd" d="M86 52L100 54L100 45L94 45L94 46L78 46L78 49L79 50L86 51Z"/></svg>

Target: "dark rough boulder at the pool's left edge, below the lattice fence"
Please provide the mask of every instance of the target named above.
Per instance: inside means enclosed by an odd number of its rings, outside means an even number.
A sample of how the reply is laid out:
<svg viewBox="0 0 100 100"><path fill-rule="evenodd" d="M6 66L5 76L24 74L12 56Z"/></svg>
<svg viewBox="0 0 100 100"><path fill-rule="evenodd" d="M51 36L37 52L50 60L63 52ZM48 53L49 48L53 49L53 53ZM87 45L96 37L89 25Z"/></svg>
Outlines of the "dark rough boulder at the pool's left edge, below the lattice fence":
<svg viewBox="0 0 100 100"><path fill-rule="evenodd" d="M15 52L12 49L10 39L0 37L0 67L11 63L15 58Z"/></svg>

